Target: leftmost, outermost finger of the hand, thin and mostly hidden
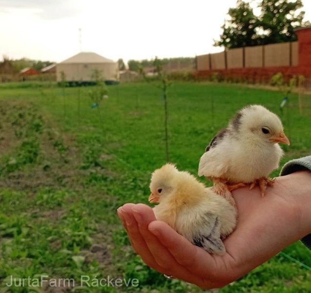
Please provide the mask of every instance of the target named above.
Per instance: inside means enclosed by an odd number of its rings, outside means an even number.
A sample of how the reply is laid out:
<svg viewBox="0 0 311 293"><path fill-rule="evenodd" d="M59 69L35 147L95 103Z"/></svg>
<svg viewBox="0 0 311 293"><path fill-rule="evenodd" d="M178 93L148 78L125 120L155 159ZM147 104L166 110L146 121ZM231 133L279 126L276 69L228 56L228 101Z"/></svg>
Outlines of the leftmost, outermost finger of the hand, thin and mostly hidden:
<svg viewBox="0 0 311 293"><path fill-rule="evenodd" d="M158 272L166 273L155 261L153 255L149 251L144 238L140 234L137 222L133 216L132 204L126 204L122 207L122 214L125 219L129 238L131 238L136 252L141 256L145 264ZM135 205L134 205L135 206ZM170 274L170 273L169 273Z"/></svg>

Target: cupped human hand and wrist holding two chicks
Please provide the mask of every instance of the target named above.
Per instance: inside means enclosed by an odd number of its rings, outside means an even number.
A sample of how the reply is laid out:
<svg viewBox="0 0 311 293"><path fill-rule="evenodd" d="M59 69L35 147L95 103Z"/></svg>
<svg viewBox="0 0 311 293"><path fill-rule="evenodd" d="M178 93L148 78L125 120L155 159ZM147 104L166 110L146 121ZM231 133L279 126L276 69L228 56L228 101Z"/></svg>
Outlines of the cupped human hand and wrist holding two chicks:
<svg viewBox="0 0 311 293"><path fill-rule="evenodd" d="M144 204L125 204L118 215L134 251L145 264L201 288L219 288L238 279L311 232L311 172L277 178L266 196L259 189L232 192L238 225L224 241L227 253L209 254L192 245Z"/></svg>

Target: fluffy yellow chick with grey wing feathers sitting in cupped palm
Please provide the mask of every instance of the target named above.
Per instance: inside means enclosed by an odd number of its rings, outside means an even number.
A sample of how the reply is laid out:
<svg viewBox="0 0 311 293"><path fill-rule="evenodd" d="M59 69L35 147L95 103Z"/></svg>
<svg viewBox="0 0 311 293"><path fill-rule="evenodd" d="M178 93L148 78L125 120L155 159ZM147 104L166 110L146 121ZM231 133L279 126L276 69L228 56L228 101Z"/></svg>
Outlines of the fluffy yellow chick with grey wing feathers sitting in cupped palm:
<svg viewBox="0 0 311 293"><path fill-rule="evenodd" d="M225 198L172 164L152 173L150 191L158 220L209 253L226 252L222 239L234 230L237 210Z"/></svg>

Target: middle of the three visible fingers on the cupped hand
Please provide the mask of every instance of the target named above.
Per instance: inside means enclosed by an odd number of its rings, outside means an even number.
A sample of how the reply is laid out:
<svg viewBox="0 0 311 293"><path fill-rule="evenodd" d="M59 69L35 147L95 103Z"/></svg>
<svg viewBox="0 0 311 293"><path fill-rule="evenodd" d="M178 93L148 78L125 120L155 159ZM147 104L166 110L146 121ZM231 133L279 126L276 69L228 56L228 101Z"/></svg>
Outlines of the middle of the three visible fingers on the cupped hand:
<svg viewBox="0 0 311 293"><path fill-rule="evenodd" d="M145 243L158 265L164 270L170 271L170 274L179 279L197 284L199 286L203 286L203 284L205 284L205 287L207 287L207 281L201 277L202 272L201 275L196 275L191 271L188 271L175 260L170 251L168 251L167 248L159 241L158 237L156 237L148 230L149 224L152 221L155 221L155 216L152 209L146 205L138 204L133 207L132 210L133 215L138 223L138 229L145 239ZM174 231L173 229L171 230ZM193 246L192 244L190 245ZM168 274L168 272L166 272L166 274ZM208 285L209 288L212 288L212 284L210 282Z"/></svg>

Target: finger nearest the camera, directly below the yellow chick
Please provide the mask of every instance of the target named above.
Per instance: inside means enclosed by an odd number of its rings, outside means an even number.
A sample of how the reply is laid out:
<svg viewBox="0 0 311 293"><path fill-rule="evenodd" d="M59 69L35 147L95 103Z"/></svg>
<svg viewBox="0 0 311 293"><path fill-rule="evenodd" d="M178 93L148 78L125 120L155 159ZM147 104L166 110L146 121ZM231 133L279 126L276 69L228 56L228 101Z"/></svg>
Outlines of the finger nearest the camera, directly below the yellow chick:
<svg viewBox="0 0 311 293"><path fill-rule="evenodd" d="M170 251L175 260L184 266L189 272L195 275L209 276L210 280L219 281L219 266L216 258L197 246L194 246L190 241L178 234L175 230L169 227L162 221L153 221L149 224L148 230L157 236L159 241ZM221 272L223 274L225 272Z"/></svg>

